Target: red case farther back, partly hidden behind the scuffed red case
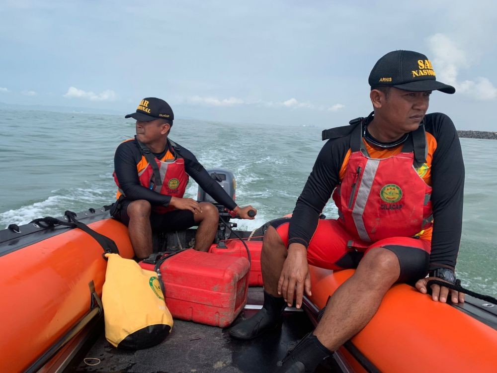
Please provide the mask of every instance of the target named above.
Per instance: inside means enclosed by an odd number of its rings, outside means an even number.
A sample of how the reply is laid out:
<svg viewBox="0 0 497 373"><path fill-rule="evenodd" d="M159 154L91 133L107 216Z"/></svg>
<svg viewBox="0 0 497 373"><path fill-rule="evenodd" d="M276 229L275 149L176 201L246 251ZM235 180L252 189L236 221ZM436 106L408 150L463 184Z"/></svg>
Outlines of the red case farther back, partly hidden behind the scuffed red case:
<svg viewBox="0 0 497 373"><path fill-rule="evenodd" d="M248 275L248 286L262 286L262 273L260 272L260 253L262 241L245 241L250 251L250 274ZM219 245L211 245L210 253L222 254L237 258L248 258L247 249L239 239L221 241Z"/></svg>

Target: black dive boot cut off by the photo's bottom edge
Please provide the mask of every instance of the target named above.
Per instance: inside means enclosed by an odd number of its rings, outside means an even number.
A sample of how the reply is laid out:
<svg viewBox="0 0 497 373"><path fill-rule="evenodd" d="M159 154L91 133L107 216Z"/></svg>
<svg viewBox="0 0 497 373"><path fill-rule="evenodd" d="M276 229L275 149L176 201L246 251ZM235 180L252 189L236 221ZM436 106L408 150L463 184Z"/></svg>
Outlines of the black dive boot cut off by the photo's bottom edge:
<svg viewBox="0 0 497 373"><path fill-rule="evenodd" d="M277 373L313 373L333 353L311 333L306 335L285 358L278 362Z"/></svg>

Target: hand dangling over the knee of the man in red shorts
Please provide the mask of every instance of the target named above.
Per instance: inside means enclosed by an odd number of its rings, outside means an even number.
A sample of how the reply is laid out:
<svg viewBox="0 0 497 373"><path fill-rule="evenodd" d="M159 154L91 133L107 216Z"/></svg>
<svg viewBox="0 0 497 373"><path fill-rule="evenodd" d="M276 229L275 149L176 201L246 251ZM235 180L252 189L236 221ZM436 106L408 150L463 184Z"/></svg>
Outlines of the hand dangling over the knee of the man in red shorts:
<svg viewBox="0 0 497 373"><path fill-rule="evenodd" d="M295 289L295 287L297 288ZM288 306L291 306L296 292L297 308L300 308L304 289L307 295L311 295L311 277L309 265L307 264L307 250L304 245L291 244L288 247L288 256L285 263L283 263L283 270L278 281L278 294L282 294Z"/></svg>

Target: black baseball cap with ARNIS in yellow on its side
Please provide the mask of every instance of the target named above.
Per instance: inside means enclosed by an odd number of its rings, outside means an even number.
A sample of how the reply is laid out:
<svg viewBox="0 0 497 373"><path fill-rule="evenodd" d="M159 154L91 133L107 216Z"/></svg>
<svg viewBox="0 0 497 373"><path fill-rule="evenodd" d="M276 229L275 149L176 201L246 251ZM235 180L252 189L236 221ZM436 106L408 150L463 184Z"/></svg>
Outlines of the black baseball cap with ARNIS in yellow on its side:
<svg viewBox="0 0 497 373"><path fill-rule="evenodd" d="M369 74L369 85L371 89L384 86L412 92L456 92L454 87L436 80L428 57L403 50L389 52L378 60Z"/></svg>

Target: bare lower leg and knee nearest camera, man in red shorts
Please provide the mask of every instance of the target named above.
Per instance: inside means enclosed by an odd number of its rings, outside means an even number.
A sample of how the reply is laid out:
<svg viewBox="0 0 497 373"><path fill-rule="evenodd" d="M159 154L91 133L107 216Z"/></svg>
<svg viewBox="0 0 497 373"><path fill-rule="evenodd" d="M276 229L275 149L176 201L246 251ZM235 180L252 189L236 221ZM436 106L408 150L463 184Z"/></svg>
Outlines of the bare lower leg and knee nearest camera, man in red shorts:
<svg viewBox="0 0 497 373"><path fill-rule="evenodd" d="M371 249L354 275L331 296L314 335L329 350L336 351L373 318L399 275L399 260L394 253L383 248Z"/></svg>

